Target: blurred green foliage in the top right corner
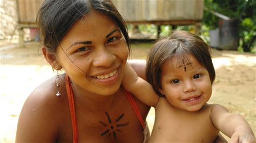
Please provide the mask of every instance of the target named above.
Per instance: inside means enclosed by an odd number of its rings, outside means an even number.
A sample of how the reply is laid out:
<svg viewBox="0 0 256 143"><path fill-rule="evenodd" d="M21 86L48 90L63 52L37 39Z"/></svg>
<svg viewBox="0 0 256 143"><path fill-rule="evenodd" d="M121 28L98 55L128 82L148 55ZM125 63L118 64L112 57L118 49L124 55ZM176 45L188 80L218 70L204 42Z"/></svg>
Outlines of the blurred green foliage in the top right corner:
<svg viewBox="0 0 256 143"><path fill-rule="evenodd" d="M255 0L204 0L205 7L230 18L239 19L239 49L251 52L256 38L256 1ZM204 11L202 32L218 27L219 18Z"/></svg>

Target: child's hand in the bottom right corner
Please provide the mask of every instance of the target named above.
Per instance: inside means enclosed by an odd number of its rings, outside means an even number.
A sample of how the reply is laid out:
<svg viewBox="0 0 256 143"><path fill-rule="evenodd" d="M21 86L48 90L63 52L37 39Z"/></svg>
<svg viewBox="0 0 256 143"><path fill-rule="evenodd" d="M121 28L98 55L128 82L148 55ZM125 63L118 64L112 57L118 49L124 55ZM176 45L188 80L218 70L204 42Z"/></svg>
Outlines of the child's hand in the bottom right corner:
<svg viewBox="0 0 256 143"><path fill-rule="evenodd" d="M250 142L250 143L255 143L256 142L256 139L254 137L254 135L252 134L247 134L247 133L241 133L241 132L235 132L230 141L229 142L243 142L243 143L247 143L247 142Z"/></svg>

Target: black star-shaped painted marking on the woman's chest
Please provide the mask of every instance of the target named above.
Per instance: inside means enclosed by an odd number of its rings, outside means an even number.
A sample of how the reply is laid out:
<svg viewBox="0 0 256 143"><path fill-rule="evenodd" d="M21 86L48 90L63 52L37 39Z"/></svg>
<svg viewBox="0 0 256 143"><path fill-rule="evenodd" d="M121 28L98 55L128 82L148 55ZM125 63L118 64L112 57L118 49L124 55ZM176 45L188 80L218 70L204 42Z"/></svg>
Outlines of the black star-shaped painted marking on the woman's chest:
<svg viewBox="0 0 256 143"><path fill-rule="evenodd" d="M99 121L99 124L103 125L104 127L106 127L106 130L100 134L100 136L104 136L107 134L107 137L110 137L111 133L113 134L113 138L117 139L117 133L116 132L120 132L122 133L122 131L119 129L119 127L123 127L123 126L127 126L129 125L129 122L125 122L125 123L118 123L120 120L123 119L124 117L124 113L122 113L122 115L120 115L113 123L113 121L110 118L110 115L108 112L105 112L105 115L107 117L107 121L109 121L109 123L104 123L103 121Z"/></svg>

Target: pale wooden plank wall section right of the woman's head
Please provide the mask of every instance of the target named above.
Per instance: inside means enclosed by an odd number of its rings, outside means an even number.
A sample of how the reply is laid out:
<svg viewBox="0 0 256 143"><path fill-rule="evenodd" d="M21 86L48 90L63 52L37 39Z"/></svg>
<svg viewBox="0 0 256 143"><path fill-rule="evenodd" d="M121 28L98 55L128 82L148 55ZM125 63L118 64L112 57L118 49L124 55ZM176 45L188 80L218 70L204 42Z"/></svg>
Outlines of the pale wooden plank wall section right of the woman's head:
<svg viewBox="0 0 256 143"><path fill-rule="evenodd" d="M112 0L112 2L127 24L194 25L197 34L204 12L203 0Z"/></svg>

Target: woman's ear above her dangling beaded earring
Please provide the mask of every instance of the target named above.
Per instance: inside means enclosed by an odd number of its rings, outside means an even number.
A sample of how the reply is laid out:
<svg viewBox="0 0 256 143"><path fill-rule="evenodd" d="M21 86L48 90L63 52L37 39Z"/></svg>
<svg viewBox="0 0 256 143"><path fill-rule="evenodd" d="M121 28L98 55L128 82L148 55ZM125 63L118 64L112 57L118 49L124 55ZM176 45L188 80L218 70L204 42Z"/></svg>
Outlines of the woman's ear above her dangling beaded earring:
<svg viewBox="0 0 256 143"><path fill-rule="evenodd" d="M43 52L44 58L46 59L46 61L48 61L48 63L51 65L52 68L56 70L62 69L62 66L57 61L56 55L53 52L49 52L48 47L43 45L42 52Z"/></svg>

